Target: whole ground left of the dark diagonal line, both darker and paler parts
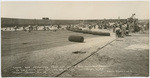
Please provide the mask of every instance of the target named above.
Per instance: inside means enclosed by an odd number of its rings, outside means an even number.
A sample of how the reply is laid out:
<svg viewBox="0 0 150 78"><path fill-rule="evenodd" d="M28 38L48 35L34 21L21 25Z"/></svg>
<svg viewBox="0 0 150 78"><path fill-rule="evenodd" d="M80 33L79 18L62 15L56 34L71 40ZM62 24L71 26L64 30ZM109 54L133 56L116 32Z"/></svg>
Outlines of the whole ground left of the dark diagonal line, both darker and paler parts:
<svg viewBox="0 0 150 78"><path fill-rule="evenodd" d="M69 35L84 36L85 41L83 43L70 42L68 41ZM97 49L95 46L105 45L112 39L113 37L111 38L110 36L82 34L67 30L57 32L33 31L31 33L24 31L2 32L2 75L9 77L56 76L63 70L55 71L52 68L53 66L66 66L67 68L90 55L91 52ZM72 53L79 50L89 52L85 53L84 56ZM34 70L39 70L39 68L36 68L37 66L49 67L49 72L39 74ZM26 67L31 68L26 69ZM18 68L20 68L19 72L21 73L18 73ZM34 73L30 72L30 70L34 71Z"/></svg>

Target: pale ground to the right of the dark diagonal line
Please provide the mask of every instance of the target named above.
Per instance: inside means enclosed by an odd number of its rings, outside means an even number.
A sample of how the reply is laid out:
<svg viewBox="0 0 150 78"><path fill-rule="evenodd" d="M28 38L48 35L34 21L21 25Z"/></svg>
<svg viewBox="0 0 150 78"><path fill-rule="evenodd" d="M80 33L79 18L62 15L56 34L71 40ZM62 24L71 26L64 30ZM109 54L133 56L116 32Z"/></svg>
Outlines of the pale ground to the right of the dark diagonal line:
<svg viewBox="0 0 150 78"><path fill-rule="evenodd" d="M61 77L148 77L148 34L118 38Z"/></svg>

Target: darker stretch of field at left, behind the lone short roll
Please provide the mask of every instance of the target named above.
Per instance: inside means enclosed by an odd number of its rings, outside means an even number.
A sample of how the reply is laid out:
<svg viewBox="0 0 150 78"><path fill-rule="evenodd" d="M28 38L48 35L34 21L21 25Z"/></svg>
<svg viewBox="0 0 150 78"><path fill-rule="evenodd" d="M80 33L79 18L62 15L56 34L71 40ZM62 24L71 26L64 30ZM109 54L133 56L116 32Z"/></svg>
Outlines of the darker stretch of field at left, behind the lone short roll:
<svg viewBox="0 0 150 78"><path fill-rule="evenodd" d="M31 52L57 46L74 44L68 41L70 35L84 36L85 39L98 37L96 35L75 33L67 30L52 31L3 31L2 56Z"/></svg>

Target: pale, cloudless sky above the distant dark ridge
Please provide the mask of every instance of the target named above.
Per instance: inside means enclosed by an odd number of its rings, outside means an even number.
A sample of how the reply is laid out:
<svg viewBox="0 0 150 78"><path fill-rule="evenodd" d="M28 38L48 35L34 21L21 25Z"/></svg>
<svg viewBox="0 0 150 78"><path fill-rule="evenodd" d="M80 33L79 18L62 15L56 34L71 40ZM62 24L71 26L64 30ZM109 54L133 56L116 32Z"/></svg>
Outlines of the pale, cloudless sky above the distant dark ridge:
<svg viewBox="0 0 150 78"><path fill-rule="evenodd" d="M2 1L1 17L25 19L149 18L148 1Z"/></svg>

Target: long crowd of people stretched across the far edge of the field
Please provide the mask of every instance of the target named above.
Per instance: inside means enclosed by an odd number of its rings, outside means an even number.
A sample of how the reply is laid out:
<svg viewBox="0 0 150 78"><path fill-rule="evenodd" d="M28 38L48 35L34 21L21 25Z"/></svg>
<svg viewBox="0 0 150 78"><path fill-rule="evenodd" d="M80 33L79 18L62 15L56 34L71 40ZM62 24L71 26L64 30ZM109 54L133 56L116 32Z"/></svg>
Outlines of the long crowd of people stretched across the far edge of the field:
<svg viewBox="0 0 150 78"><path fill-rule="evenodd" d="M129 32L132 31L132 28L129 28L129 25L127 24L127 22L113 22L112 25L110 24L111 22L108 22L106 24L76 24L76 25L66 25L66 27L69 28L79 28L79 29L83 29L83 28L87 28L87 29L113 29L113 32L116 33L116 37L125 37L127 35L129 35ZM33 30L43 30L43 31L54 31L56 32L57 29L62 28L64 26L60 26L60 25L50 25L50 26L23 26L23 31L28 31L31 32ZM144 32L144 28L146 26L144 25L138 25L140 32ZM41 29L42 28L42 29ZM16 31L17 29L19 29L18 26L14 26L14 30ZM129 31L130 30L130 31Z"/></svg>

